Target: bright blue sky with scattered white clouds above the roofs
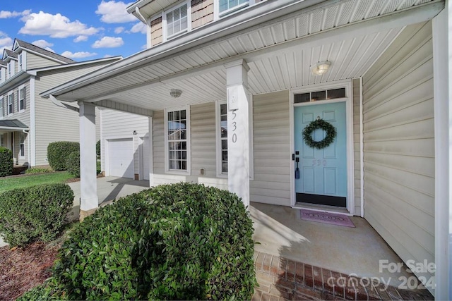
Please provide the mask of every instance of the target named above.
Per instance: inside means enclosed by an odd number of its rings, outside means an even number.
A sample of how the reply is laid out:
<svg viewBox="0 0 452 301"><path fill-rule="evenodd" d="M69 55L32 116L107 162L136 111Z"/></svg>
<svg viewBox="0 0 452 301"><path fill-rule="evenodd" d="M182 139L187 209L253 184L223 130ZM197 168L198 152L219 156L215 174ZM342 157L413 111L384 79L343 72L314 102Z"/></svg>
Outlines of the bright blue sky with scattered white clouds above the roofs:
<svg viewBox="0 0 452 301"><path fill-rule="evenodd" d="M105 0L1 0L0 51L15 38L75 61L131 56L145 49L145 25L132 4Z"/></svg>

